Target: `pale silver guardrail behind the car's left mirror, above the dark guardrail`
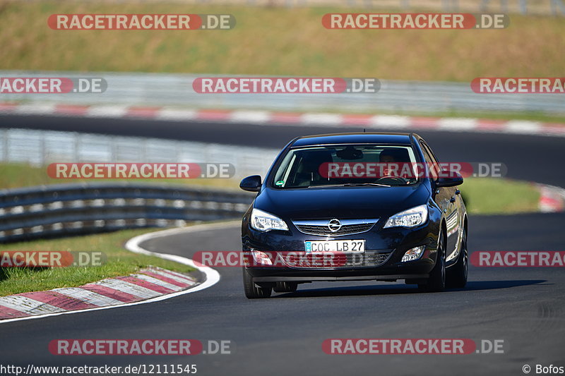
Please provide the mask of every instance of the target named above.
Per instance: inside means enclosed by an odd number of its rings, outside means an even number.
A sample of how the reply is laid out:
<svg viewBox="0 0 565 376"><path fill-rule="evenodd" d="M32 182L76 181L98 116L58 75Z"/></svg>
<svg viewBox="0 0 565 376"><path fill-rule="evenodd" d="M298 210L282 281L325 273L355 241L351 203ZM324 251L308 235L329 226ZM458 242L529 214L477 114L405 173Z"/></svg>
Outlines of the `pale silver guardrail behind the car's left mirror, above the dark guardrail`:
<svg viewBox="0 0 565 376"><path fill-rule="evenodd" d="M34 166L52 162L230 163L235 167L234 179L239 180L249 175L264 175L278 151L160 138L0 129L0 162Z"/></svg>

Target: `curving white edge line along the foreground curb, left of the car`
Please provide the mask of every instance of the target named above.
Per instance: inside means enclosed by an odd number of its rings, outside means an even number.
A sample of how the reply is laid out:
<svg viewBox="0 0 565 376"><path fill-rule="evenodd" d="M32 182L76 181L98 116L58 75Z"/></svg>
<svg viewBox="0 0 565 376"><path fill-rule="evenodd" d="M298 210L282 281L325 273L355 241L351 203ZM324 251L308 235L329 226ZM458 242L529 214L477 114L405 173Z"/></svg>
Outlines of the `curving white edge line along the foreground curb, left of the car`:
<svg viewBox="0 0 565 376"><path fill-rule="evenodd" d="M189 258L186 258L186 257L177 256L177 255L167 255L166 253L157 253L157 252L151 252L150 250L145 250L145 249L143 249L139 246L139 243L142 243L143 241L148 241L148 240L153 239L153 238L160 238L162 236L169 236L169 235L172 235L172 234L191 233L191 232L207 231L207 230L213 230L213 229L224 229L226 227L237 227L237 226L241 226L241 222L237 221L237 222L220 222L220 223L213 223L213 224L198 224L196 226L183 227L181 229L169 229L169 230L163 230L163 231L155 231L155 232L151 232L149 234L143 234L143 235L140 235L140 236L136 236L135 238L131 238L131 239L129 239L129 241L127 241L125 248L127 250L131 250L131 252L141 253L143 255L152 255L152 256L160 257L160 258L165 259L165 260L173 260L173 261L179 262L181 264L189 265L191 267L194 267L195 269L200 270L201 273L206 275L206 280L203 281L203 283L198 284L197 286L194 286L191 289L183 290L183 291L177 291L176 293L169 293L169 294L162 295L162 296L157 296L156 298L151 298L151 299L148 299L146 301L138 301L138 302L133 302L133 303L122 303L120 305L108 305L107 307L88 308L86 310L69 310L69 311L64 311L64 312L59 312L59 313L48 313L46 315L35 315L35 316L28 316L28 317L15 317L13 319L0 320L0 324L4 324L6 322L20 321L20 320L33 320L33 319L39 319L39 318L42 318L42 317L70 315L70 314L73 314L73 313L83 313L83 312L89 312L89 311L93 311L93 310L109 310L109 309L112 309L112 308L129 307L131 305L155 303L155 302L158 302L158 301L165 301L166 299L181 296L181 295L184 295L186 293L195 293L196 291L208 289L208 287L214 286L215 284L217 284L220 281L220 273L218 273L215 269L212 269L211 267L196 265L193 260L190 260Z"/></svg>

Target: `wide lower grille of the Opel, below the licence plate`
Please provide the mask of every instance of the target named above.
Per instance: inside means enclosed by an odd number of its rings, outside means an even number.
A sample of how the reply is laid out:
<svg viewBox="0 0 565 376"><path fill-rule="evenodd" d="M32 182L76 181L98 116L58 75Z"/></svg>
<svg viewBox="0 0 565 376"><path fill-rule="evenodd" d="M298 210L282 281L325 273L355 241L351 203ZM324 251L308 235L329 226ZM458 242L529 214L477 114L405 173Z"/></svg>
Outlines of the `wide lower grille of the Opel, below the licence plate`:
<svg viewBox="0 0 565 376"><path fill-rule="evenodd" d="M288 257L287 266L293 269L351 269L356 267L378 267L383 265L388 257L393 253L392 250L365 250L364 252L341 252L331 256L334 266L328 263L316 262L313 258L315 253L298 255L295 258ZM319 259L318 259L319 260Z"/></svg>

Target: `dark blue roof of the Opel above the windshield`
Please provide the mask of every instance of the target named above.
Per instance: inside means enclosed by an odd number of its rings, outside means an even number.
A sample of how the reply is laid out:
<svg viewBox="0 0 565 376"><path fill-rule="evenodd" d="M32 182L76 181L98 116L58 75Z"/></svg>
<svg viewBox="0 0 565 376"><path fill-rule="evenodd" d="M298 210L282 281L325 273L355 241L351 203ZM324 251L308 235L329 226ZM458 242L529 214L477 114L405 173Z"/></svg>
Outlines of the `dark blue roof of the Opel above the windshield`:
<svg viewBox="0 0 565 376"><path fill-rule="evenodd" d="M355 133L327 133L323 135L307 135L297 138L291 147L335 144L394 144L410 145L410 136L417 140L420 136L415 133L386 133L386 132L355 132Z"/></svg>

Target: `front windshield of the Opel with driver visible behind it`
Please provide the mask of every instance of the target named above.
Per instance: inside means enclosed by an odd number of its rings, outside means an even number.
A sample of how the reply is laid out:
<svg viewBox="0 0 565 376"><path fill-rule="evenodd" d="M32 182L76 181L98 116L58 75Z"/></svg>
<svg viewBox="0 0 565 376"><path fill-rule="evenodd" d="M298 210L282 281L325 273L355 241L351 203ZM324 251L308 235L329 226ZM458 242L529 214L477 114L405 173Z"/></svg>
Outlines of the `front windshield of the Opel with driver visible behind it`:
<svg viewBox="0 0 565 376"><path fill-rule="evenodd" d="M417 182L410 145L327 145L291 149L273 188L407 186Z"/></svg>

